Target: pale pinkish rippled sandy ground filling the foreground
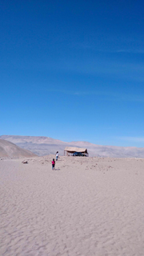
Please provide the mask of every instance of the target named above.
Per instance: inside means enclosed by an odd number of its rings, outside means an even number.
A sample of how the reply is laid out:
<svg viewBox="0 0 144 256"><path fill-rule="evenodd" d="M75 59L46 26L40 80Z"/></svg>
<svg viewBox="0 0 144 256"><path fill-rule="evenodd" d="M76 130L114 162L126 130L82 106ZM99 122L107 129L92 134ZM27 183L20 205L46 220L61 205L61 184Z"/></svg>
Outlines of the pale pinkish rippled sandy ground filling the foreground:
<svg viewBox="0 0 144 256"><path fill-rule="evenodd" d="M2 256L143 256L144 159L0 160Z"/></svg>

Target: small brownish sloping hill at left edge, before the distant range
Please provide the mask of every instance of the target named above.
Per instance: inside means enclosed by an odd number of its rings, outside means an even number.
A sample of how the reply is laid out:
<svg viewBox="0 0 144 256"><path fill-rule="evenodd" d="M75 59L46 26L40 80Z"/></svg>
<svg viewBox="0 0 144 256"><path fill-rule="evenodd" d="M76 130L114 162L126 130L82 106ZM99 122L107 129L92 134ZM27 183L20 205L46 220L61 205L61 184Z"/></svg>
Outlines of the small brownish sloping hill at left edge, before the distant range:
<svg viewBox="0 0 144 256"><path fill-rule="evenodd" d="M0 139L0 157L2 158L21 158L34 157L36 154L24 150L12 142Z"/></svg>

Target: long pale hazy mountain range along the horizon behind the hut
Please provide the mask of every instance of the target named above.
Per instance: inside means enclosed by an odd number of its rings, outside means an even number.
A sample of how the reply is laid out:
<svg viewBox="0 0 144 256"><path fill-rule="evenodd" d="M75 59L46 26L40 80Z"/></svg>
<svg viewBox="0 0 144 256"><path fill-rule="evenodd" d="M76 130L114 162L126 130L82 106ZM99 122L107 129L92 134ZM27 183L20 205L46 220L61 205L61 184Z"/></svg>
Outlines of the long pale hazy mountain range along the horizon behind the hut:
<svg viewBox="0 0 144 256"><path fill-rule="evenodd" d="M30 150L39 156L46 154L64 154L66 146L78 146L86 148L90 157L110 157L110 158L144 158L144 148L124 147L124 146L100 146L90 142L62 142L58 139L49 137L34 137L34 136L15 136L2 135L1 139L13 142L23 149Z"/></svg>

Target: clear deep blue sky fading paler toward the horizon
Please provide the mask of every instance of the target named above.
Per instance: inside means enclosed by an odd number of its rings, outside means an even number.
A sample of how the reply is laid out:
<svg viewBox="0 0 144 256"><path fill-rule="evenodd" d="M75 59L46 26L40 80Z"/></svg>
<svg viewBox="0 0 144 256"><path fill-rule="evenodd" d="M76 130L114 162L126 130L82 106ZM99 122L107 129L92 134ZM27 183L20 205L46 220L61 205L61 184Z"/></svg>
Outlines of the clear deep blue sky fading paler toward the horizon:
<svg viewBox="0 0 144 256"><path fill-rule="evenodd" d="M0 1L0 134L144 147L144 2Z"/></svg>

